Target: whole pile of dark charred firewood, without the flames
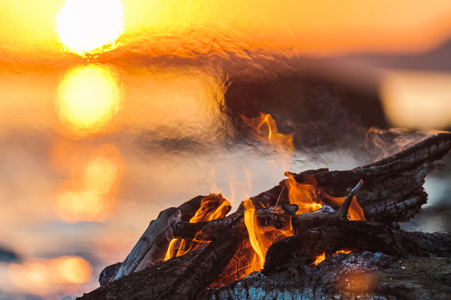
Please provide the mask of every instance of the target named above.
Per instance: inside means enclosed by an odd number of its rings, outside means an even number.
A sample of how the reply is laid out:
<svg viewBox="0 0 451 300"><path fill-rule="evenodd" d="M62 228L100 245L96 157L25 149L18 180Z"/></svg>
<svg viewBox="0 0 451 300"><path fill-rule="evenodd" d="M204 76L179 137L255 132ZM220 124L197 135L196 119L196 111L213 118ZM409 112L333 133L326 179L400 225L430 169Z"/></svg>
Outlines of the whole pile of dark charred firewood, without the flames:
<svg viewBox="0 0 451 300"><path fill-rule="evenodd" d="M427 199L422 187L424 178L440 165L441 157L450 148L450 133L432 133L370 165L347 171L320 169L291 174L300 183L315 178L319 197L322 192L337 197L348 195L341 207L330 203L336 211L293 215L285 181L252 197L259 223L274 228L291 223L295 235L272 244L261 273L232 283L224 279L229 283L224 286L218 284L218 278L225 278L221 272L248 247L244 209L240 206L232 215L218 220L188 223L202 200L194 198L178 209L162 212L138 241L136 251L132 250L139 255L131 253L130 259L109 269L113 273L116 268L123 269L121 274L128 275L121 277L118 271L117 280L107 281L81 299L449 298L446 274L451 271L451 235L405 232L388 224L406 221L421 210ZM362 188L351 190L362 179ZM347 220L354 193L372 221ZM326 202L327 197L322 200ZM211 242L183 256L158 262L173 236ZM334 256L342 249L353 253ZM321 253L325 253L326 260L312 266ZM135 273L144 262L146 268ZM439 275L428 275L426 266L431 268L429 273ZM435 286L434 279L439 281Z"/></svg>

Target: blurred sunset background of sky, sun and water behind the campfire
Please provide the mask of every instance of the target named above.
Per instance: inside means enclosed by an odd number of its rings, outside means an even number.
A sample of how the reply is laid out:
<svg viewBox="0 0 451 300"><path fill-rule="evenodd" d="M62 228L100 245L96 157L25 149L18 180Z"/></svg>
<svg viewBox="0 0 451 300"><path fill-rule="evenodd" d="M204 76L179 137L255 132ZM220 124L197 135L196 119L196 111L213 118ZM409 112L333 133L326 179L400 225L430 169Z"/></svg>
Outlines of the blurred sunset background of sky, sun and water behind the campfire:
<svg viewBox="0 0 451 300"><path fill-rule="evenodd" d="M450 15L446 0L1 1L0 299L96 288L199 194L236 208L284 171L393 153L389 128L450 129ZM261 112L294 152L243 129ZM450 230L445 161L404 228Z"/></svg>

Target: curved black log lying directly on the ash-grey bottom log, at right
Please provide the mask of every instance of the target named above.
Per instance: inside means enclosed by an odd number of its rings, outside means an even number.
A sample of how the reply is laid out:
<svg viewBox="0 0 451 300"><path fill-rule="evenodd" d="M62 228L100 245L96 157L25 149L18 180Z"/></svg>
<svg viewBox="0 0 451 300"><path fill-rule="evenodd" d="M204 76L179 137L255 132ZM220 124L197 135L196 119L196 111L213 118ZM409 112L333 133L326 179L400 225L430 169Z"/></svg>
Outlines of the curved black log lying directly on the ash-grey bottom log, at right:
<svg viewBox="0 0 451 300"><path fill-rule="evenodd" d="M336 222L272 244L266 255L265 274L311 264L321 253L339 250L382 252L395 257L451 257L451 235L447 233L407 232L367 221Z"/></svg>

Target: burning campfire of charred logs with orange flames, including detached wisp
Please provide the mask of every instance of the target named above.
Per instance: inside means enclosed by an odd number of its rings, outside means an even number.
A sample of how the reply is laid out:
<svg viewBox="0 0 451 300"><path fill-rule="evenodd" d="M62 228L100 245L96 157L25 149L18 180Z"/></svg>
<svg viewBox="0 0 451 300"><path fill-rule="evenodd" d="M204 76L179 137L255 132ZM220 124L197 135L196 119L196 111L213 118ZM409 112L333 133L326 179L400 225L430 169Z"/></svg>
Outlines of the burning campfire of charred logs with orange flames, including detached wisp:
<svg viewBox="0 0 451 300"><path fill-rule="evenodd" d="M242 118L274 158L288 161L292 136L271 116ZM428 132L351 170L286 172L231 214L221 194L194 197L162 211L127 258L102 271L101 287L80 299L449 295L451 236L398 223L421 212L424 178L450 148L450 133Z"/></svg>

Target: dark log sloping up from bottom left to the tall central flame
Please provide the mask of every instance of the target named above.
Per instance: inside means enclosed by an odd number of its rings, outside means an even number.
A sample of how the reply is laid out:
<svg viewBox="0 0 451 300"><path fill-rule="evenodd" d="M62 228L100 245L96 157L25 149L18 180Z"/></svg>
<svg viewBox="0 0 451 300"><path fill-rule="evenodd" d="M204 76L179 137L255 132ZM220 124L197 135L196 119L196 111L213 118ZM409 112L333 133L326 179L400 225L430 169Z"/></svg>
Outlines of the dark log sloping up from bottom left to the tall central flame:
<svg viewBox="0 0 451 300"><path fill-rule="evenodd" d="M245 241L240 220L201 249L108 282L79 299L193 299L218 277Z"/></svg>

